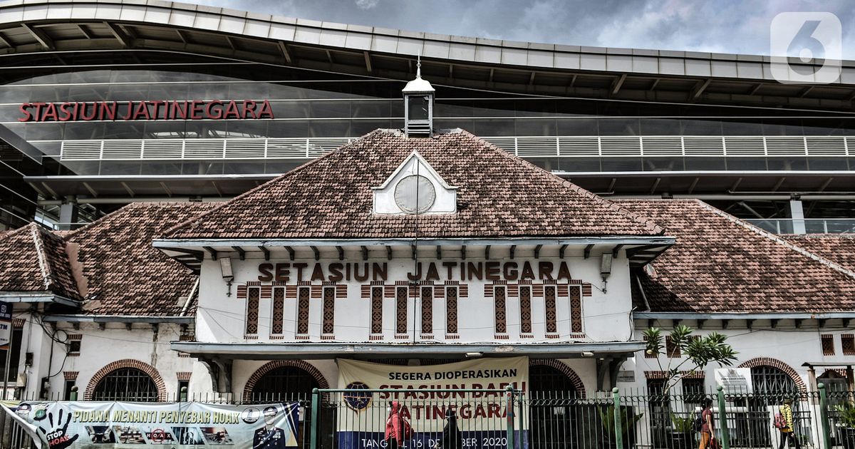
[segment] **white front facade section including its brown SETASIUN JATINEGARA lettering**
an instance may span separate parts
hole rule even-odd
[[[410,248],[405,248],[410,252]],[[206,259],[202,265],[201,283],[199,291],[199,304],[197,310],[197,334],[196,339],[203,342],[234,343],[239,341],[321,341],[334,340],[345,342],[367,342],[371,340],[393,341],[425,341],[448,343],[507,343],[507,342],[556,342],[556,341],[627,341],[631,339],[631,328],[629,327],[629,310],[631,299],[629,291],[628,261],[625,257],[618,258],[612,265],[611,275],[608,277],[608,288],[603,291],[604,282],[600,275],[599,255],[584,258],[582,249],[568,249],[563,259],[557,257],[557,248],[544,248],[540,250],[540,258],[534,258],[534,247],[519,246],[516,248],[515,258],[510,258],[508,248],[493,247],[491,258],[484,259],[484,247],[469,247],[466,250],[469,256],[461,258],[461,250],[443,249],[442,259],[436,259],[436,250],[425,248],[420,251],[417,261],[404,257],[393,257],[389,260],[385,251],[374,251],[367,260],[363,260],[358,250],[345,250],[345,259],[321,258],[315,261],[313,257],[297,257],[293,261],[289,258],[271,257],[269,261],[264,260],[261,253],[248,253],[245,260],[239,260],[237,254],[232,255],[233,287],[231,296],[227,283],[222,279],[220,263]],[[380,257],[380,252],[383,252]],[[422,256],[423,254],[423,256]],[[227,257],[222,254],[221,257]],[[422,258],[424,257],[424,258]],[[458,332],[451,333],[457,336],[453,339],[446,338],[446,301],[445,298],[433,295],[433,333],[429,338],[423,338],[420,331],[422,327],[422,298],[411,298],[407,300],[407,332],[399,334],[396,332],[396,294],[395,290],[408,287],[410,275],[415,275],[414,269],[419,264],[422,276],[416,281],[432,283],[434,287],[465,287],[457,301]],[[463,276],[461,276],[461,264],[464,265]],[[288,281],[275,281],[277,267],[280,269],[281,279],[288,277]],[[363,281],[357,281],[357,276],[365,275],[368,267],[369,277]],[[472,268],[475,267],[473,270]],[[535,279],[524,279],[528,284],[521,283],[520,277],[527,277],[527,268],[530,267],[531,275]],[[320,272],[316,270],[320,269]],[[475,273],[472,273],[475,271]],[[574,332],[571,328],[572,314],[570,310],[569,296],[559,294],[556,298],[557,305],[557,332],[546,331],[545,298],[540,290],[544,286],[552,284],[545,283],[540,279],[541,271],[546,275],[548,272],[556,286],[581,289],[581,319],[582,331]],[[315,281],[311,281],[312,275]],[[559,275],[560,273],[560,275]],[[436,276],[432,276],[435,274]],[[451,274],[451,276],[449,276]],[[338,275],[343,277],[339,281]],[[570,279],[567,278],[569,275]],[[300,276],[300,277],[298,277]],[[350,276],[351,281],[346,278]],[[478,277],[481,279],[478,279]],[[464,279],[462,280],[461,277]],[[496,279],[489,280],[487,277]],[[558,279],[560,278],[560,279]],[[260,281],[261,280],[261,281]],[[451,281],[451,282],[449,282]],[[498,281],[498,282],[496,282]],[[321,296],[318,293],[310,301],[309,332],[307,338],[297,338],[298,323],[298,301],[296,298],[286,296],[284,306],[284,317],[282,322],[283,331],[280,334],[271,332],[273,322],[273,298],[271,294],[262,293],[258,307],[258,331],[252,339],[246,339],[246,316],[247,301],[240,298],[243,293],[242,286],[247,288],[267,287],[272,288],[297,286],[298,282],[309,282],[309,285],[299,287],[315,286],[324,287],[324,283],[335,282],[337,286],[346,287],[346,296],[339,289],[335,299],[335,325],[334,338],[322,339],[321,316],[323,313],[323,301],[317,300]],[[365,288],[372,287],[372,282],[379,283],[380,287],[386,287],[382,307],[382,339],[371,332],[371,302],[365,294]],[[548,281],[547,281],[548,282]],[[256,285],[253,285],[255,283]],[[248,285],[249,284],[249,285]],[[276,286],[274,286],[276,284]],[[397,285],[396,285],[397,284]],[[514,292],[519,286],[530,285],[536,290],[531,299],[532,331],[523,333],[521,331],[521,310],[519,294]],[[498,333],[495,327],[495,300],[485,296],[486,287],[508,286],[506,300],[506,327],[507,331]],[[538,287],[534,287],[538,286]],[[334,288],[327,285],[327,288]],[[374,285],[374,287],[377,287]],[[420,284],[419,288],[425,287]],[[515,288],[516,287],[516,288]],[[562,292],[564,289],[561,289]],[[239,292],[240,291],[240,292]],[[507,338],[497,340],[497,334],[506,334]],[[528,337],[522,337],[528,334]],[[547,334],[557,334],[547,338]],[[329,335],[325,335],[327,337]]]

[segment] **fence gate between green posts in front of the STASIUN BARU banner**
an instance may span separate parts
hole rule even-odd
[[[512,389],[318,389],[310,449],[526,449],[521,405]]]

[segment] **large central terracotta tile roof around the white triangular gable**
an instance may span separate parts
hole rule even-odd
[[[406,139],[377,130],[193,218],[170,238],[411,237],[415,216],[375,215],[380,186],[412,151],[450,185],[458,211],[418,216],[419,237],[658,235],[662,229],[567,180],[453,131]]]

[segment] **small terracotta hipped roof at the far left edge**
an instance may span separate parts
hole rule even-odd
[[[65,242],[36,223],[0,236],[0,291],[80,299]]]

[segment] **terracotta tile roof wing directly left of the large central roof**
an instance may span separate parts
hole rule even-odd
[[[85,312],[178,316],[182,298],[191,292],[197,276],[152,247],[151,240],[211,207],[209,203],[128,204],[67,233],[69,245],[80,245],[78,260],[88,287]]]

